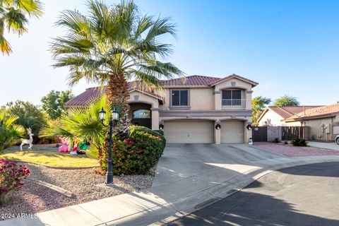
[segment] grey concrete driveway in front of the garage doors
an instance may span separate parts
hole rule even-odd
[[[168,143],[157,165],[153,186],[176,182],[215,167],[244,168],[254,162],[281,158],[247,144]],[[285,156],[284,156],[285,157]]]

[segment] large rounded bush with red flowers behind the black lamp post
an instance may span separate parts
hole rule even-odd
[[[107,170],[108,143],[100,157],[103,171]],[[159,136],[145,131],[133,131],[124,141],[112,144],[112,165],[114,174],[145,174],[157,164],[163,145]]]

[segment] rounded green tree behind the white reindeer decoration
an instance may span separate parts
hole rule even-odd
[[[9,114],[14,114],[18,117],[16,124],[32,129],[32,133],[34,133],[35,136],[39,133],[42,126],[46,124],[47,116],[43,114],[39,107],[33,105],[31,102],[17,100],[14,103],[7,103],[6,108]],[[37,143],[37,137],[34,138],[33,141]]]

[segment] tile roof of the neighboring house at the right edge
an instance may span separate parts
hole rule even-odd
[[[334,105],[326,105],[326,106],[316,107],[312,109],[307,109],[305,110],[305,112],[299,112],[299,114],[293,115],[286,120],[287,121],[299,121],[302,119],[333,117],[336,114],[339,114],[338,103]]]

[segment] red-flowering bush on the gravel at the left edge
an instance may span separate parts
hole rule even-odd
[[[6,201],[9,191],[18,191],[23,183],[20,179],[28,177],[30,169],[16,162],[0,160],[0,204]]]

